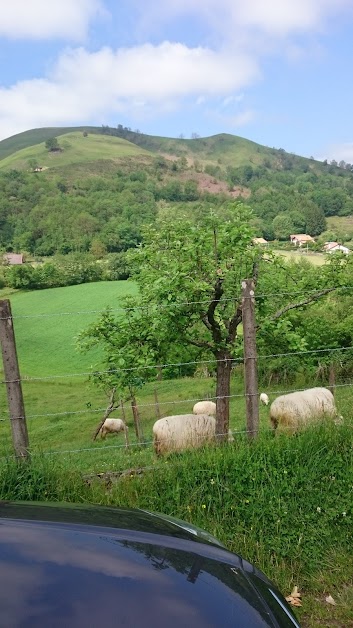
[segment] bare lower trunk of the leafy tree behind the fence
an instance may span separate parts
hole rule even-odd
[[[216,387],[216,438],[219,442],[228,440],[229,430],[229,395],[231,357],[229,351],[218,351],[217,359],[217,387]]]

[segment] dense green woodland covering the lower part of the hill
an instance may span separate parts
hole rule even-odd
[[[146,146],[153,139],[119,128],[103,127],[102,132],[130,135]],[[320,163],[264,147],[260,164],[256,152],[238,167],[215,156],[213,162],[202,162],[195,146],[203,141],[180,140],[180,149],[173,148],[179,156],[170,159],[157,154],[119,164],[103,160],[87,169],[1,171],[0,247],[32,256],[120,253],[141,241],[141,227],[154,223],[157,215],[219,207],[234,190],[253,209],[256,235],[268,240],[285,241],[293,232],[318,236],[326,230],[326,217],[353,214],[350,164]],[[186,142],[193,142],[192,160],[182,150]],[[202,181],[209,183],[206,189]],[[222,185],[212,193],[217,183]],[[330,236],[347,242],[343,234]]]

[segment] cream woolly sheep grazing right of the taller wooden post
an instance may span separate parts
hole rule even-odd
[[[260,400],[268,404],[265,393],[261,394]],[[295,431],[325,417],[335,419],[335,423],[342,420],[338,416],[333,394],[327,388],[308,388],[281,395],[270,406],[270,421],[274,430],[283,427]]]

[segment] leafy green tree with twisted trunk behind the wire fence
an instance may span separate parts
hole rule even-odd
[[[346,263],[334,266],[332,260],[312,272],[304,265],[292,268],[253,246],[251,218],[248,207],[231,203],[217,213],[200,212],[195,221],[183,216],[146,227],[143,246],[128,254],[139,296],[126,302],[126,316],[102,317],[85,332],[91,346],[105,349],[106,367],[114,365],[108,375],[111,388],[129,389],[130,377],[141,383],[154,376],[152,366],[172,362],[176,346],[213,356],[216,429],[222,440],[229,426],[232,360],[242,353],[242,280],[253,279],[259,294],[269,294],[257,302],[259,329],[266,337],[289,312],[334,290]],[[304,298],[292,302],[291,289],[296,295],[301,290]],[[290,326],[288,334],[295,336]],[[122,366],[127,374],[119,372]]]

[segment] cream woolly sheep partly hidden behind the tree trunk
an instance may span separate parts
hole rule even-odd
[[[160,456],[213,442],[216,436],[216,419],[208,414],[178,414],[158,419],[152,431],[154,450]],[[228,442],[233,440],[229,430]]]

